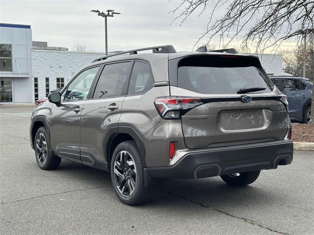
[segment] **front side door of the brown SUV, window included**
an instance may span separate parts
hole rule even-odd
[[[53,104],[50,120],[51,146],[62,158],[80,163],[79,121],[81,111],[100,66],[78,74],[61,94],[61,105]]]

